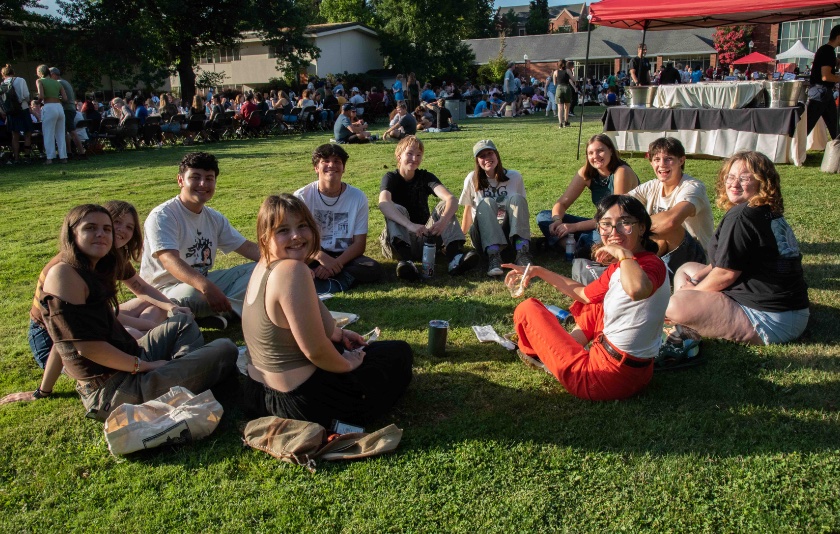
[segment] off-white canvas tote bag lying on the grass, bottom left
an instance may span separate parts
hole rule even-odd
[[[195,395],[175,386],[155,400],[117,406],[105,420],[105,441],[114,455],[189,443],[209,436],[223,413],[209,389]]]

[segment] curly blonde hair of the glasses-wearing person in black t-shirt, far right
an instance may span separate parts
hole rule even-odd
[[[744,167],[753,175],[758,182],[758,193],[750,197],[747,205],[750,207],[769,206],[774,215],[784,215],[785,203],[782,199],[782,185],[779,172],[770,158],[761,152],[753,150],[742,150],[731,155],[723,162],[717,178],[717,206],[722,210],[729,210],[735,204],[729,201],[726,195],[726,177],[732,166],[741,161]]]

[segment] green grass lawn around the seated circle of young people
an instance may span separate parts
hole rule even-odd
[[[584,139],[600,129],[591,117]],[[314,180],[311,152],[329,137],[208,145],[221,162],[211,205],[253,239],[260,202]],[[462,132],[421,138],[423,167],[456,195],[473,167],[473,143],[493,139],[505,166],[525,178],[532,220],[582,164],[575,159],[577,130],[558,130],[541,116],[465,121]],[[28,310],[65,213],[122,199],[145,217],[177,194],[177,164],[192,149],[2,169],[0,396],[39,383],[26,341]],[[395,166],[393,150],[387,143],[348,147],[345,179],[371,199],[367,253],[381,261],[375,199],[381,176]],[[653,177],[643,154],[624,156],[643,181]],[[812,303],[797,343],[704,341],[705,365],[657,373],[628,401],[586,402],[514,353],[477,342],[472,325],[512,331],[516,301],[500,281],[482,270],[406,285],[386,262],[387,281],[328,305],[360,314],[356,331],[379,326],[384,339],[405,339],[415,351],[408,394],[375,425],[405,430],[396,453],[322,462],[310,474],[243,448],[245,418],[228,401],[219,428],[204,441],[115,458],[102,425],[83,417],[73,384],[62,377],[49,399],[0,407],[0,532],[837,532],[840,234],[832,206],[840,177],[821,173],[821,158],[811,154],[804,167],[779,168]],[[704,158],[686,164],[710,196],[719,168],[719,160]],[[572,213],[594,213],[584,197]],[[720,217],[716,211],[715,221]],[[535,224],[532,232],[539,233]],[[557,257],[536,260],[569,274],[570,264]],[[545,283],[528,295],[570,304]],[[452,325],[444,358],[426,350],[431,319]],[[242,344],[238,323],[207,332],[208,339],[216,335]]]

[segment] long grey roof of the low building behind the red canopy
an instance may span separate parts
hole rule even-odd
[[[531,62],[542,63],[560,59],[582,60],[586,57],[586,33],[551,33],[526,35],[505,39],[505,56],[522,63],[525,54]],[[715,54],[712,44],[714,28],[648,32],[648,56],[685,56]],[[619,30],[597,27],[592,30],[590,59],[633,57],[642,35],[638,30]],[[464,41],[475,54],[476,64],[485,64],[499,54],[500,38],[468,39]]]

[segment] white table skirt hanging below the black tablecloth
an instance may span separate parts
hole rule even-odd
[[[704,154],[727,158],[739,150],[755,150],[773,160],[774,163],[793,163],[797,167],[805,162],[805,149],[816,146],[808,144],[809,140],[818,143],[820,123],[814,128],[811,136],[807,135],[807,111],[796,124],[793,137],[777,134],[758,134],[741,132],[738,130],[673,130],[673,131],[605,131],[613,140],[618,150],[633,152],[647,152],[648,145],[660,137],[675,137],[685,147],[686,154]],[[822,123],[822,130],[825,130]],[[815,134],[816,135],[813,135]],[[826,136],[827,137],[827,136]],[[823,140],[823,149],[825,141]]]

